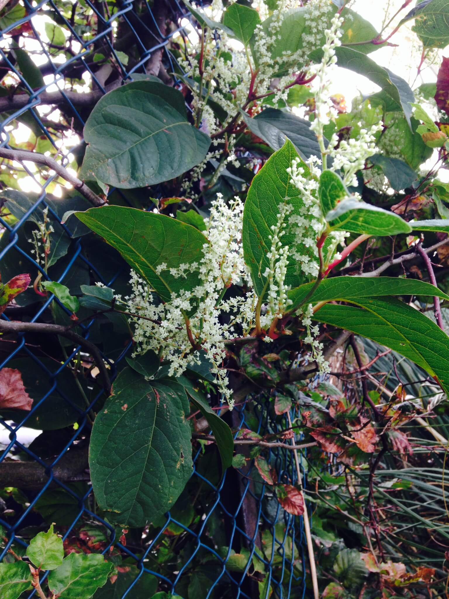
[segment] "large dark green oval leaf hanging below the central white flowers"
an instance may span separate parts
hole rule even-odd
[[[125,368],[95,419],[89,463],[108,519],[144,527],[167,512],[192,474],[189,403],[172,380],[147,382]]]

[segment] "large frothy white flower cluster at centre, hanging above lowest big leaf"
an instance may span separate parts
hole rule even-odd
[[[126,303],[127,311],[138,314],[138,317],[132,317],[135,354],[153,349],[169,361],[169,376],[180,376],[189,365],[201,364],[201,358],[207,357],[219,389],[231,408],[232,392],[227,387],[227,374],[222,368],[226,357],[224,341],[250,332],[257,301],[252,291],[242,297],[223,299],[230,285],[243,281],[251,287],[240,243],[242,211],[239,198],[228,207],[219,194],[207,222],[205,237],[208,241],[205,240],[201,260],[181,264],[178,268],[167,268],[162,263],[156,268],[158,274],[168,271],[177,278],[196,271],[201,283],[192,291],[172,294],[170,301],[163,304],[157,301],[148,284],[133,272],[131,297],[119,298]],[[193,316],[187,316],[192,312]],[[196,347],[189,340],[187,326]]]

